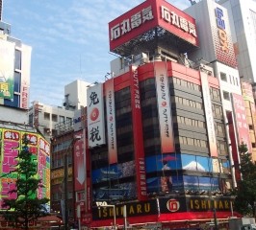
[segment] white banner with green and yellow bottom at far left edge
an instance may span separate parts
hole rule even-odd
[[[0,54],[0,98],[13,99],[14,43],[0,39]]]

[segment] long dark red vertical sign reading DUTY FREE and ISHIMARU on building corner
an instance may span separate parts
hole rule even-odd
[[[137,174],[138,199],[147,199],[144,142],[141,121],[141,95],[137,66],[130,67],[131,105],[133,116],[134,154]]]

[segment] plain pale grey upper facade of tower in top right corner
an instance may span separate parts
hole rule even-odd
[[[256,2],[254,0],[219,0],[218,4],[228,11],[239,64],[240,77],[245,81],[256,81]]]

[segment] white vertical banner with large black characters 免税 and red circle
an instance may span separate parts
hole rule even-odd
[[[106,144],[104,125],[103,84],[97,83],[87,90],[89,147]]]

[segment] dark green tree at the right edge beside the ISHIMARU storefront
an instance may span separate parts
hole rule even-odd
[[[251,153],[247,146],[242,144],[239,147],[240,152],[240,172],[242,179],[238,181],[238,187],[235,193],[235,209],[248,217],[255,217],[256,208],[256,165],[252,162]]]

